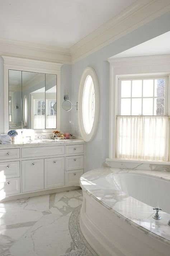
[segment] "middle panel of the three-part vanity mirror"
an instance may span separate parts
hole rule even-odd
[[[27,104],[27,122],[25,120]],[[22,71],[23,128],[45,129],[45,74]]]

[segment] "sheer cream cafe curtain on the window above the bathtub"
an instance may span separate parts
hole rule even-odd
[[[169,116],[117,116],[116,157],[168,161]]]

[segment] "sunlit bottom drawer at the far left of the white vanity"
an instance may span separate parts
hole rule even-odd
[[[13,195],[20,193],[20,178],[6,179],[0,183],[1,195]]]

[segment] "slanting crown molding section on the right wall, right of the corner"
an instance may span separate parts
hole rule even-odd
[[[137,0],[70,48],[72,63],[170,11],[169,0]]]

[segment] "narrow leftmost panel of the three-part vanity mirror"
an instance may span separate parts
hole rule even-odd
[[[9,70],[9,129],[22,128],[22,72]]]

